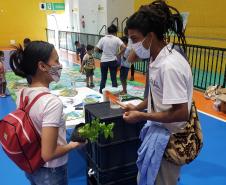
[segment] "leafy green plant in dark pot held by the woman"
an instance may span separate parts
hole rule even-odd
[[[75,126],[71,135],[71,141],[85,142],[88,139],[91,142],[95,142],[100,134],[103,134],[106,139],[113,138],[113,128],[114,123],[101,123],[99,119],[94,119],[91,123],[80,123]]]

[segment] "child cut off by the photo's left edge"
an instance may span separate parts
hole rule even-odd
[[[5,79],[5,69],[4,69],[4,53],[0,51],[0,97],[6,97],[6,79]]]

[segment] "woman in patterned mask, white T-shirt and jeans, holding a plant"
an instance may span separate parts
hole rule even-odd
[[[29,87],[22,89],[20,96],[28,104],[37,95],[41,96],[30,108],[29,117],[41,136],[41,157],[44,165],[26,177],[32,185],[67,185],[67,153],[84,143],[66,141],[66,125],[63,119],[61,100],[50,93],[49,84],[60,80],[62,65],[54,46],[44,41],[32,41],[23,51],[18,47],[10,58],[15,74],[26,78],[31,76]]]

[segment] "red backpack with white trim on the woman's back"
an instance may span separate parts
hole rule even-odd
[[[28,173],[33,173],[45,163],[41,157],[41,137],[29,117],[29,111],[46,94],[49,93],[40,93],[28,105],[28,96],[23,100],[22,91],[19,108],[0,121],[0,144],[3,150],[18,167]]]

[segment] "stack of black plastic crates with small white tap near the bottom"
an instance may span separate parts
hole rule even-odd
[[[97,142],[87,144],[90,185],[136,185],[139,134],[144,123],[125,123],[123,113],[122,109],[111,109],[109,102],[85,106],[86,123],[96,118],[115,123],[112,139],[100,135]]]

